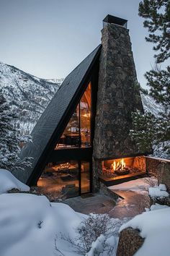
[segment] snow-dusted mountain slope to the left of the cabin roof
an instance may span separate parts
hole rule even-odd
[[[0,89],[17,108],[23,133],[30,134],[63,80],[45,80],[0,62]]]

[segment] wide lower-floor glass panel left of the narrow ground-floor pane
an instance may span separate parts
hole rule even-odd
[[[66,197],[79,195],[79,164],[77,161],[48,163],[37,186],[45,193],[62,192]]]

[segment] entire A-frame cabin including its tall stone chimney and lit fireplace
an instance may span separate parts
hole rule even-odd
[[[73,197],[146,175],[147,153],[130,137],[143,106],[127,20],[107,15],[103,25],[102,45],[68,74],[22,149],[32,158],[22,182]]]

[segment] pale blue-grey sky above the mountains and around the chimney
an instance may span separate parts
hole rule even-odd
[[[66,77],[100,43],[107,14],[128,20],[138,81],[154,63],[138,0],[0,0],[0,61],[42,78]]]

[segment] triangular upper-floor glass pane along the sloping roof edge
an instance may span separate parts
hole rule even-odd
[[[76,107],[70,121],[68,122],[66,129],[61,136],[57,148],[75,148],[79,147],[81,143],[81,137],[79,134],[79,105]]]

